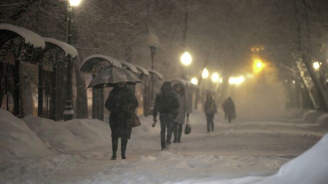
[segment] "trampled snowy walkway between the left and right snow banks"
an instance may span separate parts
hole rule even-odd
[[[254,183],[327,132],[311,124],[216,119],[208,134],[202,113],[190,117],[192,133],[168,151],[160,151],[159,126],[151,128],[147,117],[132,132],[127,160],[110,160],[111,146],[40,159],[1,159],[0,183]],[[244,176],[251,177],[226,180]]]

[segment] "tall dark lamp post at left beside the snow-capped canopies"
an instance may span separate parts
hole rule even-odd
[[[72,22],[73,22],[73,9],[72,7],[76,7],[80,4],[81,0],[70,0],[67,5],[67,25],[68,25],[68,34],[67,34],[67,43],[72,45]],[[64,111],[64,120],[71,120],[73,119],[74,110],[73,110],[73,103],[72,103],[72,58],[68,57],[68,64],[67,64],[67,86],[66,86],[66,106]]]

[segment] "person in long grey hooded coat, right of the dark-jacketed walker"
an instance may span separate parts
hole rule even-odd
[[[186,115],[189,117],[190,110],[185,87],[178,83],[173,86],[173,92],[177,94],[179,100],[178,116],[174,119],[173,136],[174,143],[181,143],[182,125],[185,122]]]

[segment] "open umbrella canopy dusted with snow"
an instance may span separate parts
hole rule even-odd
[[[125,81],[126,84],[141,83],[141,79],[133,72],[113,67],[106,69],[92,79],[87,88],[114,87],[115,83]]]

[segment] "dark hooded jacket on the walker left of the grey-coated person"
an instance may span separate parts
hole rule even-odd
[[[177,95],[172,92],[171,83],[164,82],[160,91],[155,98],[153,117],[156,117],[158,112],[176,114],[179,108],[179,101]]]

